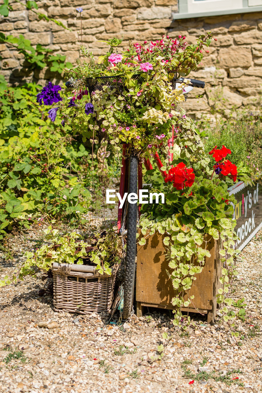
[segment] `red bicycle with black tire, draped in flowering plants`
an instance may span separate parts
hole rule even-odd
[[[134,75],[135,79],[139,81],[140,76]],[[183,89],[183,94],[189,93],[194,87],[204,88],[205,82],[199,81],[197,79],[190,79],[181,77],[176,79],[175,77],[172,80],[173,88],[177,88],[181,83],[184,82],[184,79],[190,81],[187,86]],[[89,93],[94,90],[101,90],[104,86],[114,86],[114,77],[97,77],[97,78],[88,78],[87,80],[87,88]],[[70,81],[66,82],[66,87],[73,87]],[[114,86],[116,87],[116,86]],[[121,93],[122,85],[117,86],[119,93]],[[124,88],[124,86],[123,86]],[[184,91],[185,90],[185,91]],[[172,126],[172,136],[168,140],[168,155],[169,162],[173,161],[173,153],[170,152],[173,147],[174,139],[174,127]],[[131,149],[131,154],[127,158],[126,153],[127,149]],[[167,173],[161,168],[164,166],[161,162],[161,158],[159,157],[158,152],[156,152],[153,156],[157,167],[161,171],[163,178],[167,176]],[[142,190],[142,164],[144,163],[147,170],[153,169],[151,162],[149,159],[147,160],[139,160],[137,154],[132,151],[132,146],[128,146],[127,144],[123,145],[122,151],[122,167],[120,174],[120,189],[119,194],[121,199],[123,199],[125,193],[129,194],[138,194],[139,190]],[[138,192],[137,192],[138,191]],[[123,307],[120,310],[120,318],[122,320],[127,320],[131,316],[132,306],[133,306],[133,296],[134,296],[134,288],[135,288],[135,258],[136,258],[136,243],[137,243],[137,224],[139,219],[140,206],[137,208],[137,202],[128,202],[125,201],[124,206],[120,208],[120,201],[118,203],[118,233],[122,236],[127,235],[126,237],[126,250],[125,250],[125,275],[124,275],[124,303]],[[123,240],[124,242],[124,240]]]

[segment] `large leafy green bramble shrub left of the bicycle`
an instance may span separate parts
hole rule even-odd
[[[18,224],[28,227],[22,212],[72,220],[90,204],[89,151],[46,117],[35,100],[39,88],[9,88],[0,79],[0,239]]]

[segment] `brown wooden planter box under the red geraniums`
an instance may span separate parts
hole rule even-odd
[[[166,270],[172,273],[164,256],[163,239],[166,234],[155,233],[146,238],[144,246],[137,245],[137,316],[142,316],[143,307],[174,309],[172,298],[175,296],[172,281]],[[205,265],[188,291],[194,295],[194,305],[191,303],[183,311],[201,312],[207,314],[208,323],[214,322],[216,315],[216,294],[221,284],[220,241],[208,240],[208,251],[211,257],[206,258]],[[187,296],[185,297],[186,300]],[[198,310],[196,310],[198,309]]]

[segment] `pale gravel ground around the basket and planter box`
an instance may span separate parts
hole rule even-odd
[[[2,277],[35,247],[35,237],[9,240],[13,261],[0,255]],[[232,296],[247,303],[245,320],[236,322],[242,340],[231,337],[219,311],[213,326],[195,314],[185,332],[173,327],[172,314],[153,309],[144,318],[106,325],[105,315],[54,312],[40,274],[6,286],[0,293],[0,391],[261,392],[261,262],[262,231],[242,251],[232,288]],[[163,332],[172,339],[163,340]]]

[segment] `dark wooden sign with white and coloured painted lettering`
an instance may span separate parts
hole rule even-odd
[[[242,250],[247,243],[262,228],[262,185],[254,186],[238,182],[228,189],[229,194],[234,194],[237,203],[233,205],[233,220],[236,219],[236,231],[240,240],[237,248]]]

